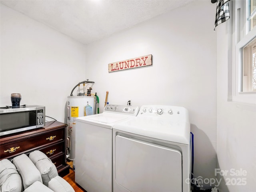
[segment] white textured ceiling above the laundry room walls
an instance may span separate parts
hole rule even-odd
[[[192,1],[1,0],[1,4],[89,44]]]

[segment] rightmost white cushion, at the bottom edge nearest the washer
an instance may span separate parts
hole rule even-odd
[[[54,192],[75,192],[72,186],[60,176],[52,178],[48,187]]]

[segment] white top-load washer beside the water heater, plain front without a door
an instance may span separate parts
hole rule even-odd
[[[88,192],[112,192],[112,127],[135,118],[138,106],[106,105],[76,118],[75,181]]]

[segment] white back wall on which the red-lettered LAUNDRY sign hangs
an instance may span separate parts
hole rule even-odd
[[[203,8],[202,8],[203,7]],[[86,78],[110,104],[184,106],[195,137],[196,177],[216,168],[216,5],[196,1],[92,43]],[[108,64],[152,54],[153,65],[108,73]],[[206,186],[206,185],[205,185]]]

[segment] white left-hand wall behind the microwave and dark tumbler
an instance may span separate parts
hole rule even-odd
[[[47,116],[66,122],[67,96],[86,80],[85,47],[1,4],[0,69],[0,106],[18,92],[20,104],[46,106]]]

